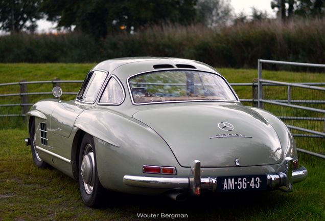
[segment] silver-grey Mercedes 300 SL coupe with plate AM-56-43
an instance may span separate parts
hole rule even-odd
[[[103,61],[75,100],[35,103],[27,144],[36,166],[79,181],[88,206],[102,191],[161,194],[291,191],[306,179],[286,125],[244,106],[204,63],[132,57]]]

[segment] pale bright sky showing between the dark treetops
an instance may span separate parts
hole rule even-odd
[[[251,8],[255,7],[258,10],[266,11],[270,17],[276,17],[275,12],[271,9],[271,0],[224,0],[225,2],[230,2],[230,5],[234,8],[235,14],[244,12],[244,14],[250,15]],[[37,32],[55,32],[56,24],[51,23],[47,20],[37,21]]]

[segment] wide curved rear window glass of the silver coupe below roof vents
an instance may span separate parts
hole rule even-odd
[[[158,71],[129,78],[134,103],[169,101],[237,101],[228,83],[219,75],[200,71]]]

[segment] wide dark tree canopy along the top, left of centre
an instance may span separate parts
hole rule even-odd
[[[76,26],[76,30],[105,38],[109,32],[123,28],[171,23],[191,23],[196,0],[44,0],[42,11],[58,27]]]

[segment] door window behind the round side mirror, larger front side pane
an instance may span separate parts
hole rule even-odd
[[[87,85],[83,85],[85,87],[83,88],[82,95],[78,95],[78,98],[85,102],[94,102],[105,77],[105,72],[94,71],[91,76],[88,76]]]

